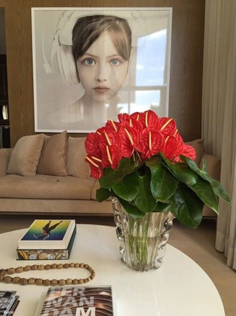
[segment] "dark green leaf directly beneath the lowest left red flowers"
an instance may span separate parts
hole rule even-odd
[[[99,179],[100,186],[106,189],[111,189],[125,175],[125,168],[130,164],[129,158],[122,158],[117,169],[104,168],[103,177]]]

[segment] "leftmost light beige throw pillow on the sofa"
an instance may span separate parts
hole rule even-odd
[[[20,174],[25,177],[34,177],[39,163],[43,142],[43,134],[21,137],[12,150],[7,173]]]

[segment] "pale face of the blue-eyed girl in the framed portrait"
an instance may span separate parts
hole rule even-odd
[[[98,102],[106,102],[117,94],[128,70],[128,61],[119,55],[107,31],[78,58],[76,64],[83,88]]]

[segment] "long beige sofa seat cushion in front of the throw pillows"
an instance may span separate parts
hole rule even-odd
[[[0,197],[90,200],[94,182],[93,178],[8,174],[0,178]]]

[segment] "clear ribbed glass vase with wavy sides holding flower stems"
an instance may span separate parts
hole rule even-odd
[[[136,271],[160,268],[173,216],[153,212],[135,220],[115,197],[112,208],[121,260]]]

